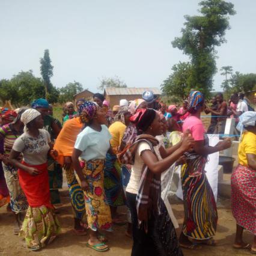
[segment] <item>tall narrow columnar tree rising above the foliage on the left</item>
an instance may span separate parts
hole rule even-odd
[[[44,81],[45,97],[50,103],[55,103],[58,101],[59,93],[50,82],[50,78],[53,76],[53,66],[51,63],[49,50],[46,49],[44,50],[43,58],[40,58],[40,72]]]

